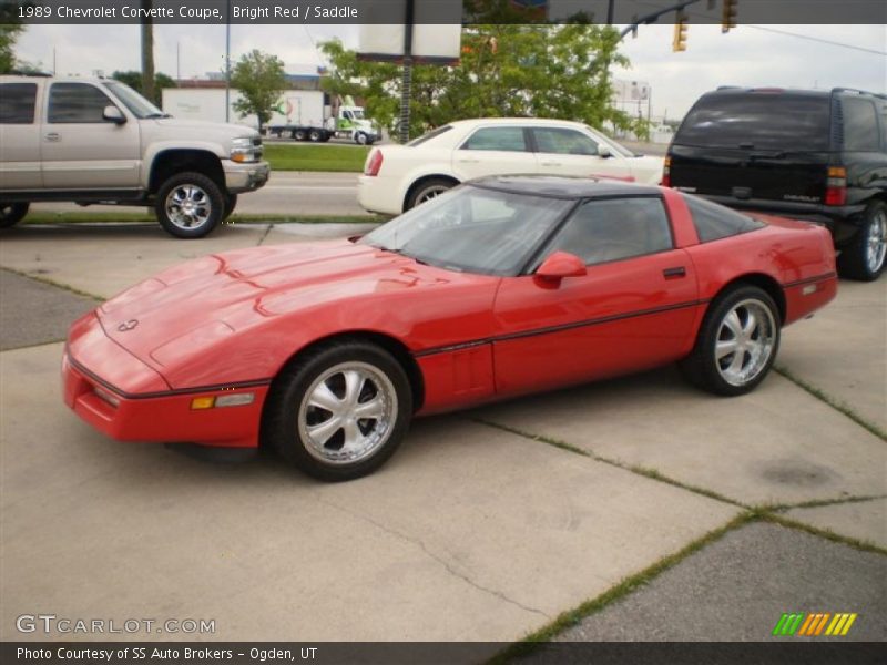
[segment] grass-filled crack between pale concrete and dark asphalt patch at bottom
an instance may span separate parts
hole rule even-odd
[[[714,531],[710,531],[702,538],[691,542],[690,544],[685,545],[674,554],[669,554],[663,556],[652,565],[645,567],[640,573],[635,573],[634,575],[630,575],[628,577],[623,577],[615,586],[611,586],[601,595],[595,596],[589,601],[585,601],[578,607],[572,610],[568,610],[567,612],[562,612],[559,614],[554,621],[542,626],[538,631],[530,633],[526,637],[523,637],[520,642],[516,642],[504,649],[496,654],[492,658],[490,658],[487,663],[488,665],[504,665],[506,663],[511,662],[514,658],[519,658],[522,656],[527,656],[532,652],[537,651],[542,643],[550,642],[553,637],[562,633],[563,631],[577,625],[583,618],[591,616],[592,614],[597,614],[601,612],[609,605],[615,603],[616,601],[628,596],[630,593],[636,591],[638,589],[648,585],[652,582],[655,577],[667,571],[669,569],[674,567],[682,561],[684,561],[691,554],[699,552],[706,545],[710,545],[718,540],[721,540],[726,533],[733,531],[734,529],[738,529],[740,526],[744,526],[750,522],[753,522],[757,519],[756,513],[752,511],[746,511],[733,520],[715,529]]]

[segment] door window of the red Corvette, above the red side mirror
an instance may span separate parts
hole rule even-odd
[[[608,198],[579,206],[544,254],[570,252],[594,265],[672,247],[661,198]]]

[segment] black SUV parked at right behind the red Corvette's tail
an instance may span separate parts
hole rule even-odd
[[[825,224],[840,273],[877,279],[887,253],[887,95],[843,88],[708,92],[669,146],[663,184]]]

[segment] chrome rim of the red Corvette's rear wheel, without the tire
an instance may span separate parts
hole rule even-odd
[[[714,347],[717,370],[731,386],[744,386],[768,367],[776,324],[759,300],[737,303],[722,319]]]

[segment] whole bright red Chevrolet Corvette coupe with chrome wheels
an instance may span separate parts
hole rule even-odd
[[[824,228],[652,186],[499,176],[351,239],[171,268],[71,327],[64,400],[124,441],[278,449],[347,480],[410,419],[680,361],[759,383],[834,298]]]

